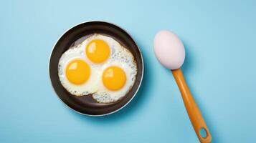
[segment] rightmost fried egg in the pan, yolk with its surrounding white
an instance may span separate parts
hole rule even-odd
[[[131,51],[118,41],[112,43],[113,53],[103,65],[99,89],[93,99],[100,103],[116,102],[127,94],[136,80],[137,64]]]

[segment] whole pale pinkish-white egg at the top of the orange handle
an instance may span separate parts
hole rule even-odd
[[[156,58],[166,68],[179,69],[184,63],[184,45],[171,31],[159,31],[155,36],[153,46]]]

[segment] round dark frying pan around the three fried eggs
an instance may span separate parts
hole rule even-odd
[[[70,46],[79,44],[80,41],[85,39],[87,36],[95,33],[110,36],[119,41],[120,44],[123,44],[123,46],[131,51],[137,61],[138,73],[136,76],[136,82],[133,84],[130,92],[128,92],[128,94],[126,94],[122,99],[110,104],[95,102],[91,96],[75,97],[67,92],[64,87],[62,87],[58,76],[58,63],[60,56],[62,56],[62,54],[67,51]],[[70,107],[81,114],[91,116],[111,114],[125,107],[125,105],[128,104],[131,99],[133,99],[136,92],[138,92],[138,88],[141,85],[141,80],[143,77],[143,58],[136,42],[119,26],[104,21],[88,21],[72,27],[57,41],[52,49],[52,54],[49,59],[49,77],[54,91],[58,97],[60,97],[62,102],[67,105],[67,107]]]

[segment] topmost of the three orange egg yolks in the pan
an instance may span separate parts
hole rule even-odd
[[[110,55],[110,47],[102,39],[93,39],[85,49],[86,56],[94,63],[102,63]]]

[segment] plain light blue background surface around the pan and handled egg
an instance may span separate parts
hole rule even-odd
[[[153,54],[161,29],[186,46],[182,69],[213,142],[256,142],[255,1],[1,1],[0,142],[198,142],[179,89]],[[57,39],[88,20],[127,30],[145,61],[127,107],[87,117],[65,107],[48,77]]]

